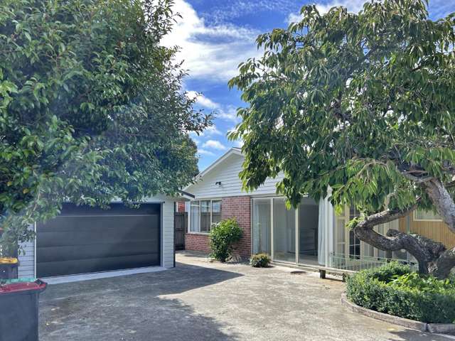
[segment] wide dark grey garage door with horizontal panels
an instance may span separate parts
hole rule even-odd
[[[63,205],[61,215],[37,224],[36,276],[160,265],[160,212],[160,204]]]

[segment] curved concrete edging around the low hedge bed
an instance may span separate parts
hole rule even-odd
[[[368,316],[369,318],[375,318],[376,320],[382,320],[388,323],[393,323],[395,325],[401,325],[406,328],[420,330],[422,332],[455,332],[455,324],[453,323],[425,323],[416,320],[410,320],[408,318],[400,318],[398,316],[380,313],[375,310],[360,307],[360,305],[356,305],[355,303],[348,301],[348,298],[346,298],[346,293],[343,293],[341,296],[341,304],[353,313],[358,313]]]

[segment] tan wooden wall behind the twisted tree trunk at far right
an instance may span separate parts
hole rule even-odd
[[[410,232],[441,242],[446,248],[455,247],[455,233],[451,232],[444,222],[416,222],[411,213],[408,217],[400,218],[400,231],[407,232],[408,219]]]

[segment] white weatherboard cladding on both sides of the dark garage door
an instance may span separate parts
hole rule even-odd
[[[157,195],[150,197],[144,202],[161,203],[161,266],[164,268],[173,267],[173,251],[174,251],[174,227],[173,227],[173,214],[175,199],[166,197],[164,195]],[[28,242],[23,244],[25,254],[19,256],[19,278],[33,278],[35,277],[35,242]]]

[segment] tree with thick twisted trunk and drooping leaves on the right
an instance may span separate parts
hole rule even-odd
[[[420,207],[455,232],[455,14],[432,21],[422,0],[384,0],[301,16],[259,36],[264,55],[230,80],[248,104],[230,135],[245,142],[245,187],[283,171],[293,205],[331,188],[333,205],[361,212],[349,224],[359,239],[444,278],[455,248],[373,227]]]

